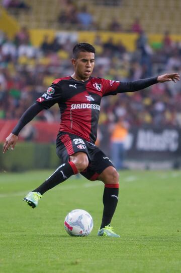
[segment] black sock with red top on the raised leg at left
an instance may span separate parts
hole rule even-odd
[[[33,190],[33,192],[44,194],[46,191],[52,189],[56,185],[67,180],[70,176],[77,173],[77,168],[72,161],[63,163],[49,178],[45,180],[43,184],[41,184],[37,189]]]

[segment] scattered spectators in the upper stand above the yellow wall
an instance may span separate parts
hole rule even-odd
[[[104,2],[104,1],[103,1]],[[108,1],[109,2],[109,1]],[[115,1],[116,4],[117,1]],[[114,1],[110,2],[114,6]],[[106,1],[102,3],[106,5]],[[107,3],[108,4],[108,3]],[[2,0],[2,6],[15,12],[19,11],[31,11],[31,4],[28,5],[26,2],[21,0]],[[79,6],[75,0],[59,0],[59,6],[57,7],[59,14],[57,16],[57,22],[60,28],[65,30],[99,30],[102,29],[100,23],[96,21],[93,13],[89,11],[86,4]],[[17,14],[17,13],[16,13]],[[112,32],[136,32],[142,31],[141,23],[139,18],[135,18],[134,22],[129,28],[124,29],[118,18],[113,17],[112,22],[106,25],[106,29]]]

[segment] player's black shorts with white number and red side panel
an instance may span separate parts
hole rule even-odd
[[[89,164],[80,174],[88,180],[95,181],[106,168],[114,167],[111,160],[95,144],[69,133],[59,132],[56,141],[56,152],[62,163],[68,162],[69,156],[76,152],[85,152]]]

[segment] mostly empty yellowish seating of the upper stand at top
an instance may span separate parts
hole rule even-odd
[[[32,0],[31,3],[24,0],[24,2],[31,6],[28,12],[22,9],[21,12],[17,12],[17,9],[9,9],[9,12],[21,25],[29,28],[80,29],[80,25],[77,24],[61,25],[58,23],[60,12],[64,11],[67,6],[65,0],[53,0],[53,2],[51,0]],[[71,2],[77,11],[86,5],[94,18],[97,29],[108,30],[113,18],[116,18],[124,31],[130,31],[135,18],[139,18],[147,33],[163,33],[168,29],[172,34],[180,33],[181,2],[179,0],[90,0],[88,2],[79,0],[68,2]]]

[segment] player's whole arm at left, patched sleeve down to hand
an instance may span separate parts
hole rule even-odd
[[[18,134],[21,129],[28,124],[33,118],[38,115],[42,110],[50,108],[61,98],[61,89],[58,85],[52,84],[46,93],[39,97],[33,105],[31,105],[27,111],[22,115],[18,124],[13,129],[12,133],[6,138],[3,153],[5,153],[10,147],[13,150],[18,141]]]

